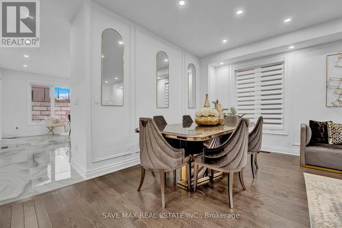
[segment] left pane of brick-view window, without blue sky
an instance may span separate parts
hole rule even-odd
[[[43,121],[51,116],[50,88],[31,86],[32,121]]]

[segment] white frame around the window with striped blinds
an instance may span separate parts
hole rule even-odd
[[[284,97],[282,98],[283,101],[283,129],[282,130],[272,130],[272,129],[263,129],[263,134],[272,134],[272,135],[282,135],[288,136],[289,135],[289,128],[287,126],[288,123],[288,116],[289,116],[289,104],[286,102],[289,99],[289,92],[287,92],[288,88],[287,85],[289,84],[289,55],[277,55],[273,58],[259,58],[257,60],[250,60],[243,63],[233,64],[232,73],[233,73],[233,80],[234,80],[234,105],[237,107],[237,88],[236,88],[236,75],[235,71],[240,71],[244,68],[252,68],[257,66],[263,66],[268,64],[274,64],[276,62],[284,62],[284,74],[283,74],[283,93]]]

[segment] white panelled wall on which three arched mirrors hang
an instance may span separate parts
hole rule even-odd
[[[99,102],[101,34],[107,28],[116,29],[124,41],[122,107],[102,106]],[[138,135],[134,133],[135,127],[139,125],[138,118],[163,115],[169,123],[181,123],[183,114],[194,112],[187,109],[186,71],[187,64],[193,63],[196,66],[199,85],[198,58],[95,3],[88,2],[83,5],[71,29],[74,69],[71,73],[74,94],[72,112],[73,118],[79,118],[77,122],[73,119],[71,121],[72,165],[83,177],[91,178],[140,164]],[[80,42],[81,37],[83,40]],[[170,62],[169,108],[156,107],[158,51],[166,51]],[[79,85],[80,80],[84,84],[82,88]],[[82,91],[88,94],[81,98]],[[74,105],[76,100],[79,105]],[[81,108],[83,102],[86,107]],[[90,113],[90,116],[81,116],[81,110]],[[84,132],[87,132],[86,136],[75,137],[76,134],[82,135]],[[81,156],[86,157],[86,161],[79,162]]]

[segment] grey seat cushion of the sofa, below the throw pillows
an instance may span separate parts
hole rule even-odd
[[[317,144],[305,149],[306,164],[342,170],[342,145]]]

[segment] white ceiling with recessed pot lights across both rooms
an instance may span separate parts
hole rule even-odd
[[[69,77],[70,21],[83,1],[40,1],[40,48],[1,48],[0,68]],[[342,17],[341,0],[93,1],[198,57]]]

